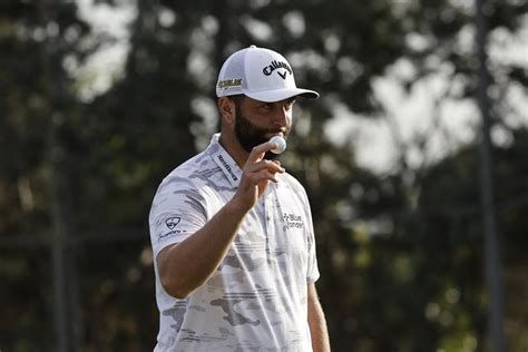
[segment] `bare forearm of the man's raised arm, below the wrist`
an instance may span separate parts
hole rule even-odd
[[[245,214],[229,202],[190,237],[164,248],[157,258],[164,289],[184,299],[201,286],[225,257]]]

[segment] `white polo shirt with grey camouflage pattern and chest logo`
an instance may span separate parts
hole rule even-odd
[[[218,138],[162,182],[149,216],[155,257],[192,236],[234,196],[242,170]],[[156,352],[312,351],[306,285],[320,274],[310,204],[295,178],[276,177],[217,271],[185,300],[163,289],[154,261]]]

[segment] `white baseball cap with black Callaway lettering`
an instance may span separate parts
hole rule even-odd
[[[282,55],[255,46],[229,56],[218,75],[218,98],[241,94],[265,102],[295,96],[319,97],[316,91],[297,88],[292,67]]]

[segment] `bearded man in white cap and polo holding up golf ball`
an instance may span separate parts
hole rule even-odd
[[[280,53],[233,53],[216,87],[221,134],[160,184],[149,216],[160,312],[155,351],[330,351],[310,205],[273,160],[295,86]]]

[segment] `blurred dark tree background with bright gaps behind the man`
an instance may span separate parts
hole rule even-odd
[[[322,95],[282,163],[333,351],[528,351],[528,6],[478,3],[3,0],[0,351],[153,350],[150,202],[250,45]]]

